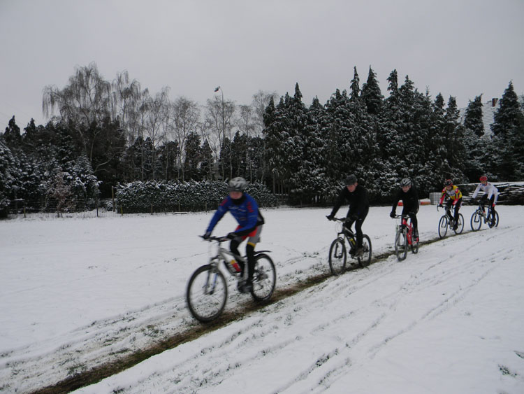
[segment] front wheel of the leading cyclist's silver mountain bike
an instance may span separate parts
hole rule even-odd
[[[187,307],[191,315],[202,323],[214,320],[224,311],[227,296],[224,274],[211,265],[196,269],[187,283]]]

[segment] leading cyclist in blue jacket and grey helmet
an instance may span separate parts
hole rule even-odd
[[[255,199],[245,192],[247,182],[244,178],[233,178],[228,183],[229,195],[221,202],[217,211],[211,218],[208,230],[205,230],[204,239],[211,236],[214,226],[224,214],[229,211],[233,218],[238,222],[238,226],[234,232],[227,234],[227,238],[231,239],[229,248],[235,255],[238,253],[238,246],[242,241],[247,240],[246,255],[247,255],[247,279],[238,282],[238,290],[241,293],[249,293],[252,290],[253,272],[255,269],[255,246],[260,241],[260,233],[264,224],[259,204]],[[244,273],[244,264],[239,262],[242,268],[242,277]]]

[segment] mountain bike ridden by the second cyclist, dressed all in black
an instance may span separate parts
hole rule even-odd
[[[343,274],[347,263],[347,248],[349,247],[349,256],[356,258],[361,267],[367,267],[371,262],[371,239],[366,234],[362,236],[362,248],[364,254],[356,255],[356,234],[345,226],[348,221],[347,218],[333,218],[332,220],[340,223],[340,230],[338,230],[337,238],[333,240],[329,248],[329,268],[333,275]]]

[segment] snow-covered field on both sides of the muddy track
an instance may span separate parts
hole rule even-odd
[[[392,251],[389,210],[365,221],[374,254]],[[278,288],[328,272],[329,211],[264,211]],[[473,211],[463,234],[403,262],[330,277],[78,393],[524,393],[524,207],[499,206],[500,226],[480,232]],[[0,392],[197,327],[184,291],[210,255],[197,236],[211,215],[0,221]],[[441,215],[421,206],[422,241]],[[249,302],[231,285],[228,310]]]

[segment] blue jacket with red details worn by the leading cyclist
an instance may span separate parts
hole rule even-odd
[[[223,202],[221,202],[217,211],[211,218],[207,232],[213,231],[214,226],[219,223],[219,220],[227,211],[231,212],[233,218],[238,222],[235,234],[238,234],[239,236],[249,234],[257,226],[263,225],[264,223],[264,218],[259,210],[259,204],[256,204],[253,197],[247,193],[243,193],[240,199],[232,199],[228,196]]]

